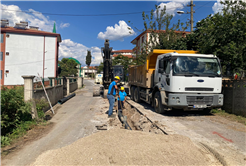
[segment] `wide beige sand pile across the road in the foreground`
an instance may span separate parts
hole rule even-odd
[[[180,135],[115,129],[44,152],[33,165],[208,165],[209,159]]]

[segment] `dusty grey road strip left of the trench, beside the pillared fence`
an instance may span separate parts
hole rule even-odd
[[[95,125],[100,121],[93,119],[100,111],[100,107],[96,106],[102,99],[92,97],[93,80],[84,80],[84,84],[82,93],[64,103],[51,119],[55,126],[46,136],[14,152],[2,164],[29,165],[44,151],[64,147],[96,132]]]

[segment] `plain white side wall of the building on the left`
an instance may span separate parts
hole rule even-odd
[[[22,75],[43,76],[44,36],[9,33],[6,38],[4,85],[24,84]],[[55,77],[56,37],[45,37],[45,75]]]

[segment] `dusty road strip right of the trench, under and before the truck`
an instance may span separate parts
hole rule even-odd
[[[149,104],[128,101],[153,122],[162,125],[167,133],[184,135],[197,145],[209,146],[227,165],[246,165],[245,125],[201,111],[176,110],[161,115]]]

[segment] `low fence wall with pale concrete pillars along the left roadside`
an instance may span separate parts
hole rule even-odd
[[[44,98],[47,100],[44,89],[37,88],[34,89],[33,78],[35,76],[22,76],[24,79],[24,100],[33,101],[33,99],[40,100]],[[64,96],[69,95],[76,89],[83,86],[82,77],[68,77],[68,78],[55,78],[50,77],[50,86],[45,87],[47,95],[50,99],[51,105],[55,105],[58,100],[64,98]],[[70,82],[72,80],[72,82]],[[33,117],[35,117],[35,108],[32,108]]]

